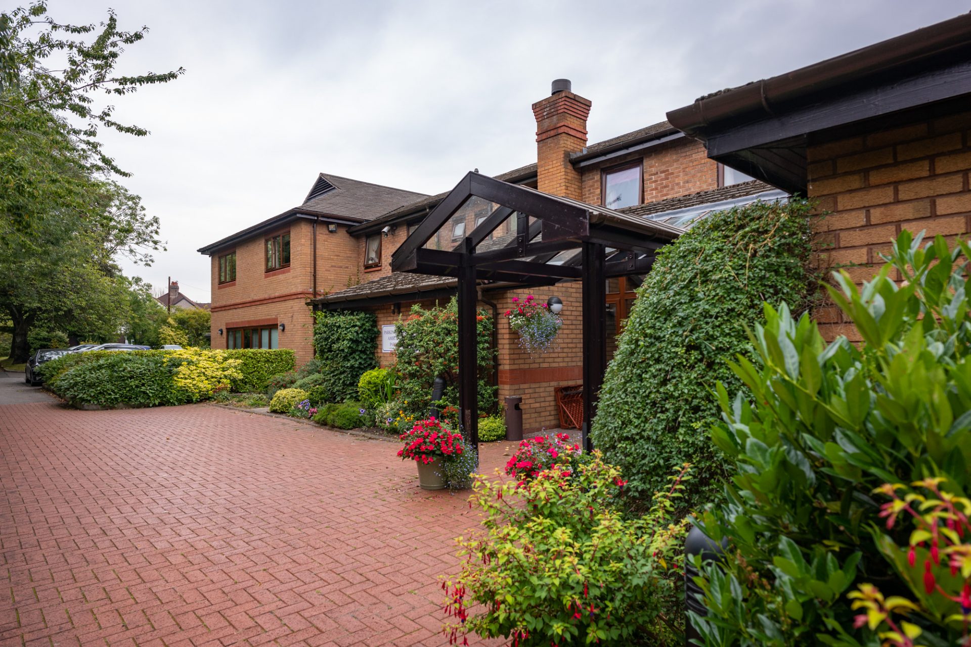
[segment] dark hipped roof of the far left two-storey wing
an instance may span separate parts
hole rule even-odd
[[[327,173],[318,174],[307,197],[298,207],[285,210],[251,227],[242,229],[226,238],[198,249],[211,254],[219,248],[243,241],[260,232],[273,229],[300,218],[324,218],[331,221],[356,224],[376,218],[402,205],[414,203],[426,197],[416,191],[405,191],[359,179],[342,178]]]

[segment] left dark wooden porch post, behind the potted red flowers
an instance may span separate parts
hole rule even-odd
[[[458,268],[458,408],[462,435],[475,452],[479,464],[479,340],[476,304],[479,292],[476,268],[472,265],[471,239],[464,241],[462,265]]]

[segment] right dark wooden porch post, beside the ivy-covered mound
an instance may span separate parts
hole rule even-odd
[[[584,451],[593,449],[590,423],[607,370],[606,253],[599,243],[583,243],[584,269]]]

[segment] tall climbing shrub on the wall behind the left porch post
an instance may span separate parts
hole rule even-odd
[[[494,411],[495,387],[489,382],[495,351],[492,348],[492,318],[480,310],[477,315],[477,361],[479,375],[479,409]],[[458,307],[452,299],[446,307],[424,309],[412,307],[411,315],[395,325],[398,345],[395,348],[399,401],[402,410],[423,418],[431,406],[431,389],[435,377],[446,382],[442,406],[458,404]]]

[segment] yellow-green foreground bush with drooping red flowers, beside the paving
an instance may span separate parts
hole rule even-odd
[[[599,452],[573,479],[554,470],[524,484],[477,475],[471,503],[485,532],[457,540],[468,559],[445,583],[452,642],[468,632],[521,647],[684,644],[661,611],[677,606],[683,579],[675,557],[686,523],[670,514],[686,471],[635,519],[619,511],[620,470]]]

